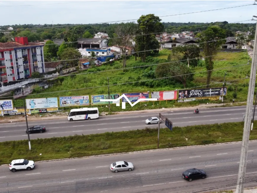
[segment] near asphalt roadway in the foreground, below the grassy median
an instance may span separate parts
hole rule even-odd
[[[245,187],[257,184],[257,142],[250,142]],[[0,193],[193,193],[235,188],[241,143],[36,163],[31,171],[0,167]],[[110,164],[132,162],[114,173]],[[185,181],[182,172],[203,169],[206,179]]]

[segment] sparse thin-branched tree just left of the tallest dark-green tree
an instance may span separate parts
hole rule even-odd
[[[136,24],[134,22],[121,23],[116,27],[113,44],[120,46],[123,58],[123,68],[126,67],[126,51],[128,46],[132,46],[133,35],[136,32]]]

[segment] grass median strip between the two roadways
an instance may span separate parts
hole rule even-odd
[[[250,140],[257,139],[254,122]],[[243,122],[174,127],[160,130],[160,148],[241,141],[242,136]],[[27,140],[1,142],[0,164],[19,158],[39,161],[156,149],[157,129],[37,139],[31,146],[30,151]]]

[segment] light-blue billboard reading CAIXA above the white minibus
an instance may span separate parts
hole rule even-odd
[[[60,107],[89,105],[89,95],[59,97]]]

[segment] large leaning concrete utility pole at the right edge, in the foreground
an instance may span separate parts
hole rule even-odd
[[[253,16],[253,17],[257,18],[257,16]],[[256,30],[255,30],[255,41],[253,46],[251,74],[250,74],[249,87],[248,87],[247,105],[246,105],[246,111],[245,111],[245,124],[244,124],[244,131],[243,131],[241,156],[240,156],[240,163],[239,163],[239,169],[238,169],[237,188],[235,193],[244,192],[247,151],[248,151],[248,145],[249,145],[249,135],[250,135],[251,118],[252,118],[253,95],[254,95],[255,80],[256,80],[256,67],[257,67],[256,40],[257,40],[257,22],[256,22]]]

